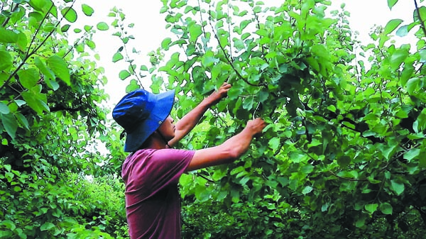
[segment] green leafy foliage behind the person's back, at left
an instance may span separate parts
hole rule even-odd
[[[80,6],[1,3],[0,238],[126,237],[122,183],[99,178],[116,173],[99,152],[110,141],[99,136],[109,131],[107,80],[90,54],[92,35],[107,26],[73,27],[94,12]]]

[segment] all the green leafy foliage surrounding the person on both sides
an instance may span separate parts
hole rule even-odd
[[[125,14],[73,28],[75,1],[4,1],[0,14],[0,238],[124,238],[124,152],[109,127],[92,36],[121,40],[127,91],[175,88],[182,117],[223,82],[229,97],[181,143],[222,143],[264,118],[232,165],[181,177],[184,238],[420,238],[426,223],[426,7],[354,37],[331,1],[162,0],[173,37],[138,65]],[[389,0],[390,9],[398,0]],[[405,25],[404,25],[405,24]],[[70,31],[80,34],[69,43]],[[415,43],[393,37],[413,34]],[[113,125],[114,126],[114,125]],[[96,140],[95,140],[96,139]],[[106,155],[97,152],[99,142]],[[86,175],[94,177],[88,181]],[[107,191],[109,194],[107,194]]]

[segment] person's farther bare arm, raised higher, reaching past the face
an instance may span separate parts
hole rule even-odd
[[[206,99],[204,99],[200,104],[198,104],[192,111],[187,113],[183,118],[176,123],[175,138],[171,139],[168,144],[173,147],[175,143],[178,143],[187,133],[190,133],[192,128],[194,128],[200,118],[204,113],[214,104],[217,104],[222,98],[226,97],[231,84],[224,83],[219,88],[219,90],[214,91]]]

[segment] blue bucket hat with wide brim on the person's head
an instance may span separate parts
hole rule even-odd
[[[152,94],[136,89],[123,97],[112,111],[112,118],[126,131],[124,152],[136,151],[170,115],[175,90]]]

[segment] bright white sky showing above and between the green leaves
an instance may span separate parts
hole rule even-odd
[[[281,3],[277,0],[263,0],[263,2],[267,6]],[[359,31],[360,39],[367,40],[368,33],[374,25],[385,26],[389,20],[400,18],[405,21],[401,24],[403,26],[411,23],[413,19],[413,1],[400,0],[392,11],[388,9],[387,0],[332,0],[332,2],[335,4],[332,9],[339,9],[343,2],[346,4],[346,11],[351,13],[349,18],[351,28]],[[136,40],[131,40],[131,43],[136,44],[136,50],[141,51],[141,62],[136,62],[138,66],[144,64],[149,67],[148,52],[156,50],[164,38],[173,37],[173,33],[165,29],[164,15],[159,13],[162,3],[158,0],[141,2],[134,0],[77,0],[76,4],[76,6],[80,4],[92,6],[95,13],[93,17],[89,18],[91,19],[89,21],[96,22],[111,23],[112,18],[107,17],[109,10],[114,6],[123,9],[127,22],[135,23],[135,26],[129,29],[129,32],[136,38]],[[125,81],[119,79],[119,71],[126,69],[127,66],[111,62],[112,56],[120,46],[118,38],[111,35],[111,31],[99,32],[95,36],[94,42],[97,44],[97,51],[101,56],[101,61],[97,64],[105,68],[105,74],[108,78],[109,83],[106,91],[110,96],[109,105],[112,108],[124,96],[125,87],[129,84],[129,79]],[[148,76],[144,79],[149,78]]]

